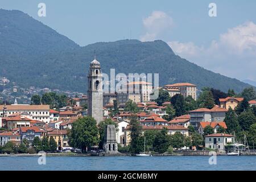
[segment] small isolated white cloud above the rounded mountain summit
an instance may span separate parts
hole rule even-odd
[[[141,41],[152,41],[158,38],[166,30],[173,26],[173,20],[163,11],[153,11],[150,16],[143,19],[146,33],[141,36]]]

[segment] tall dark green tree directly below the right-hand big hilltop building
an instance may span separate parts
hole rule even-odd
[[[181,94],[176,94],[172,97],[171,103],[174,106],[176,117],[185,114],[185,100]]]

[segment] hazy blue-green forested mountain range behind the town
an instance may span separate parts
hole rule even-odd
[[[119,40],[80,47],[38,20],[17,10],[0,10],[0,77],[21,86],[86,92],[86,75],[94,50],[102,71],[159,73],[160,85],[192,82],[241,92],[250,86],[213,73],[175,55],[161,40]]]

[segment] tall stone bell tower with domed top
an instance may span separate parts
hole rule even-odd
[[[96,60],[90,63],[88,73],[88,115],[96,119],[97,124],[103,120],[103,90],[101,64]]]

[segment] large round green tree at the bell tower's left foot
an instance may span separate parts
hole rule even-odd
[[[97,122],[92,117],[83,117],[73,122],[72,129],[69,131],[69,144],[72,147],[81,148],[82,152],[98,144]]]

